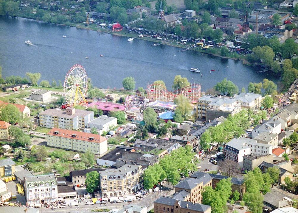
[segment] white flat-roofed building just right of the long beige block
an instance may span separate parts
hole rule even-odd
[[[113,126],[117,126],[117,118],[101,115],[87,123],[84,132],[91,133],[92,129],[96,129],[97,133],[101,135],[103,131],[109,131]]]

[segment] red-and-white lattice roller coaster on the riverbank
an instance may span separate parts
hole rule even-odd
[[[190,84],[172,92],[164,85],[147,83],[146,92],[150,100],[173,101],[178,95],[184,95],[189,101],[198,101],[201,97],[201,84]]]

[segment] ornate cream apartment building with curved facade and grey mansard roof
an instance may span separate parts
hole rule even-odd
[[[124,165],[118,169],[99,171],[102,196],[109,198],[133,194],[133,190],[139,188],[142,172],[140,165]]]

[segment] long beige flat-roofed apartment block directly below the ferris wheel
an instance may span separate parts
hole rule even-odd
[[[47,109],[39,114],[40,126],[45,128],[85,129],[93,119],[94,112],[75,108]]]

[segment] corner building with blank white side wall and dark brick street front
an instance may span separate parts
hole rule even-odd
[[[232,160],[236,163],[243,162],[243,156],[249,154],[249,147],[244,141],[234,138],[226,144],[224,148],[225,158]]]

